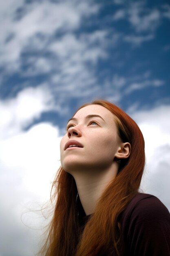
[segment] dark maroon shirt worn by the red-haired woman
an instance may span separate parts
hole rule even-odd
[[[82,227],[86,216],[77,198]],[[121,213],[121,256],[170,256],[170,213],[154,195],[137,193]]]

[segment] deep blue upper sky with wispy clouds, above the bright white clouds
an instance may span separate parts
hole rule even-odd
[[[49,90],[56,108],[35,121],[57,120],[63,128],[94,98],[126,111],[170,103],[169,1],[9,2],[1,25],[0,97]]]

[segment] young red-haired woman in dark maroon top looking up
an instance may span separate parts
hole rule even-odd
[[[61,140],[45,256],[170,256],[170,213],[139,193],[144,138],[104,100],[82,106]]]

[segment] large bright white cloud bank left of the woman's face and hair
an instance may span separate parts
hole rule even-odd
[[[45,222],[37,210],[49,200],[60,166],[60,137],[58,128],[48,123],[23,129],[53,108],[53,97],[45,86],[26,88],[0,102],[2,255],[32,256],[38,251]]]

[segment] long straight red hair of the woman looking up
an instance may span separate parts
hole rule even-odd
[[[101,105],[116,116],[119,137],[131,145],[130,156],[121,162],[117,176],[102,193],[83,232],[77,215],[75,180],[60,167],[51,190],[55,200],[53,218],[40,251],[44,256],[120,255],[119,216],[139,189],[145,164],[144,138],[135,121],[113,103],[95,100],[91,104]]]

